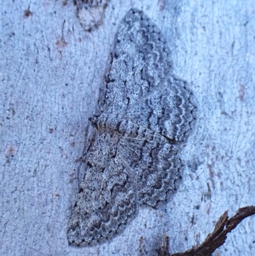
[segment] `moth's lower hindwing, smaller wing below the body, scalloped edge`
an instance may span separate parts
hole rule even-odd
[[[181,165],[176,146],[163,138],[122,138],[118,149],[134,172],[140,204],[154,207],[166,199],[168,192],[173,192]]]

